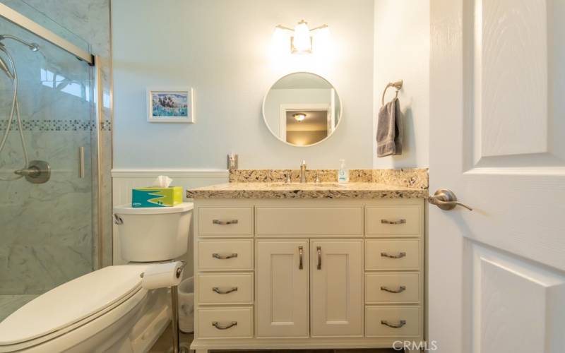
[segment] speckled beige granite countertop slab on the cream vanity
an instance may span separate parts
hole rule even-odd
[[[187,198],[427,198],[427,189],[374,182],[231,182],[186,191]]]

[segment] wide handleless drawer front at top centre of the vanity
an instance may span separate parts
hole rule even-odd
[[[258,236],[357,236],[363,235],[363,208],[267,207],[256,208]]]

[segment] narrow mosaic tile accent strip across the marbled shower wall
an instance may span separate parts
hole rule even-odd
[[[0,120],[0,131],[5,131],[8,126],[8,120]],[[96,124],[93,121],[83,120],[23,120],[23,131],[93,131]],[[16,119],[13,119],[10,126],[11,131],[18,131],[19,126]],[[100,130],[112,131],[112,121],[102,121]]]

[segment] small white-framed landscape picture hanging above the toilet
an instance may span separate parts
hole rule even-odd
[[[194,90],[191,87],[148,88],[147,121],[194,124]]]

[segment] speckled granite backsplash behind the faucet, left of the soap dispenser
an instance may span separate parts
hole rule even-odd
[[[290,174],[291,181],[300,180],[299,169],[237,169],[230,170],[230,183],[283,183]],[[338,181],[337,169],[307,169],[306,181],[314,182],[316,175],[323,183]]]

